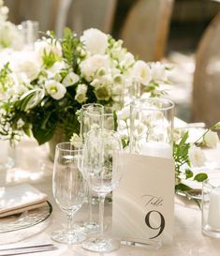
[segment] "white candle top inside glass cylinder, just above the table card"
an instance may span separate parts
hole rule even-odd
[[[172,148],[169,143],[142,143],[141,154],[150,157],[172,158]]]

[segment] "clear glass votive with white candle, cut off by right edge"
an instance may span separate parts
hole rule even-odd
[[[220,238],[220,178],[210,178],[202,184],[202,233]]]

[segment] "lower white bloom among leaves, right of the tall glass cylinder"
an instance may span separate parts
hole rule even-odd
[[[191,144],[188,156],[191,164],[195,167],[203,166],[206,161],[204,152],[195,144]]]

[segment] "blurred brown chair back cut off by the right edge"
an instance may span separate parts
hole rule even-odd
[[[208,127],[220,121],[220,13],[198,45],[193,87],[193,121]]]

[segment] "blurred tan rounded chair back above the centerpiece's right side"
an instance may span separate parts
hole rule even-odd
[[[164,57],[174,0],[139,0],[129,11],[120,38],[145,61]]]

